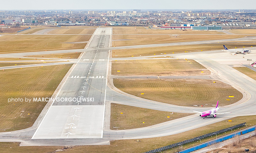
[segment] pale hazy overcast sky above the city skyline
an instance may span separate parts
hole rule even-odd
[[[1,0],[0,10],[256,9],[256,0]]]

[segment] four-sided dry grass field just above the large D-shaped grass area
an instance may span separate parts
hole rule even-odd
[[[211,72],[194,60],[154,59],[112,61],[112,75],[119,76],[195,76]]]

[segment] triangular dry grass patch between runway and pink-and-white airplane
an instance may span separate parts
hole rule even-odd
[[[111,103],[110,129],[123,130],[132,128],[143,128],[192,114],[193,113],[172,114],[172,112],[157,111],[152,109]],[[167,116],[169,116],[170,118],[167,118]]]

